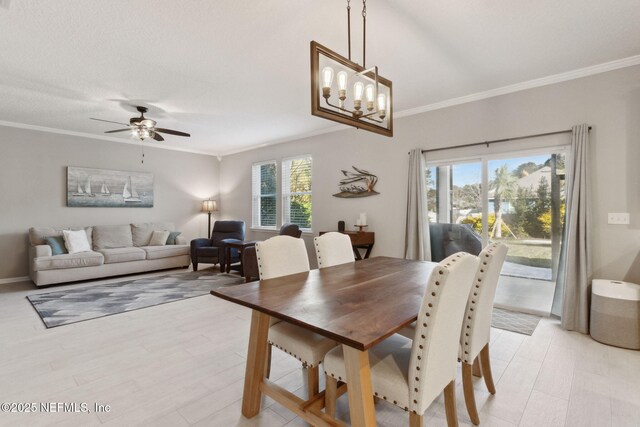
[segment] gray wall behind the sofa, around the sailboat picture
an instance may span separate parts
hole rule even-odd
[[[215,157],[0,127],[0,280],[28,274],[27,231],[171,221],[187,239],[206,235],[203,199],[218,193]],[[68,208],[67,166],[151,172],[153,208]]]

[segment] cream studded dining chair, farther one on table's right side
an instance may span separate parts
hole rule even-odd
[[[467,299],[462,324],[459,352],[459,360],[462,362],[462,388],[469,418],[475,425],[480,424],[480,417],[473,392],[472,375],[483,376],[489,393],[496,394],[489,359],[489,337],[493,300],[507,250],[508,247],[502,243],[492,243],[478,255],[480,266]],[[404,328],[400,334],[412,338],[415,334],[415,324]]]

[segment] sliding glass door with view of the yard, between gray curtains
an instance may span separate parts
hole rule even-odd
[[[496,305],[550,311],[564,229],[564,178],[561,147],[429,164],[429,221],[449,224],[438,226],[449,235],[465,227],[482,246],[500,241],[509,247]],[[431,228],[440,233],[438,227]],[[468,241],[457,249],[471,248]]]

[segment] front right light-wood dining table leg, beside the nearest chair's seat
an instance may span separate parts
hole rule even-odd
[[[373,405],[369,352],[360,351],[347,345],[343,345],[342,350],[349,387],[351,425],[354,427],[375,426],[376,411]]]

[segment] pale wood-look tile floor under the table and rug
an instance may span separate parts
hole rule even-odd
[[[0,412],[1,426],[305,425],[268,398],[257,417],[240,414],[248,309],[207,295],[47,330],[25,297],[62,288],[0,286],[0,402],[87,403],[92,412]],[[497,394],[476,379],[482,426],[640,426],[640,352],[550,319],[533,336],[493,329],[491,339]],[[271,377],[304,395],[299,363],[277,350]],[[471,425],[459,382],[459,421]],[[96,403],[111,409],[95,412]],[[381,426],[408,425],[392,405],[376,411]],[[338,415],[348,420],[346,395]],[[446,425],[442,397],[425,425]]]

